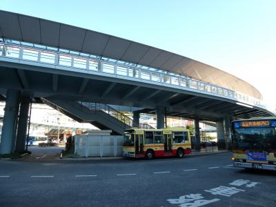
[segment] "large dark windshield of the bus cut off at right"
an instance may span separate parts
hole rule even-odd
[[[237,150],[276,150],[276,129],[235,128],[233,148]]]

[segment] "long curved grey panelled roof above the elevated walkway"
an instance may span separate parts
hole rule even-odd
[[[0,37],[159,68],[262,99],[256,88],[228,72],[166,50],[64,23],[0,10]]]

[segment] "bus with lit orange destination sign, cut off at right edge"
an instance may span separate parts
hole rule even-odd
[[[232,121],[233,165],[276,170],[276,117]]]

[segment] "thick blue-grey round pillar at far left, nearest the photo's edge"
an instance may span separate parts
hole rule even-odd
[[[14,150],[15,135],[17,132],[17,117],[19,109],[19,90],[8,90],[6,107],[3,117],[0,154],[10,154]]]

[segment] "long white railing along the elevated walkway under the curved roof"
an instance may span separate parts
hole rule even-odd
[[[101,75],[112,74],[121,78],[130,77],[133,80],[139,79],[150,83],[161,83],[167,87],[179,87],[184,90],[195,90],[200,93],[226,97],[228,99],[240,101],[242,103],[249,103],[250,105],[266,109],[266,106],[264,106],[261,100],[244,95],[241,92],[235,92],[234,90],[229,90],[227,88],[222,88],[220,86],[180,75],[166,73],[161,70],[146,70],[135,66],[126,66],[117,62],[114,63],[92,57],[83,57],[81,55],[71,55],[67,53],[65,54],[59,51],[43,50],[40,48],[32,48],[4,42],[0,43],[0,57],[54,64],[68,68],[77,68],[78,70],[82,69],[87,72],[99,72]]]

